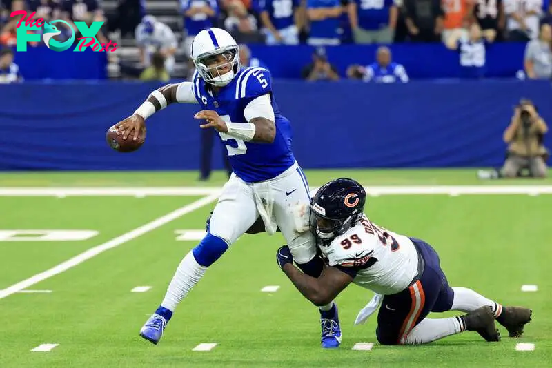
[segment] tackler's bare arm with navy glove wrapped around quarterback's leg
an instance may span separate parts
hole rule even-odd
[[[308,276],[293,265],[293,258],[287,246],[278,249],[278,265],[297,290],[314,305],[331,303],[335,297],[353,282],[353,277],[337,267],[325,267],[318,278]]]

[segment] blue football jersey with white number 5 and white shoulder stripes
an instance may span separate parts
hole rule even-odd
[[[202,110],[214,110],[224,121],[233,123],[247,123],[244,110],[248,103],[259,96],[270,94],[276,123],[273,143],[244,142],[219,133],[222,144],[228,150],[232,170],[239,178],[248,183],[269,180],[295,163],[291,151],[290,122],[279,112],[268,70],[259,67],[243,68],[217,94],[213,94],[210,85],[197,72],[192,81],[195,99]]]

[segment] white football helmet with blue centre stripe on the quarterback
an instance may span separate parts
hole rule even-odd
[[[239,71],[239,47],[230,33],[220,28],[209,28],[197,34],[192,42],[192,60],[197,72],[207,83],[223,87],[234,79]],[[217,55],[224,55],[228,63],[209,68]],[[219,73],[219,68],[231,64],[229,72]]]

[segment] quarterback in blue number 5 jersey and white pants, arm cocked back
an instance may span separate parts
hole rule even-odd
[[[146,119],[170,103],[197,103],[203,110],[195,119],[202,121],[201,128],[219,132],[233,169],[205,238],[181,260],[164,300],[140,331],[154,344],[161,339],[177,304],[259,217],[268,234],[277,229],[282,232],[303,272],[317,277],[324,267],[316,256],[308,223],[302,222],[304,214],[296,210],[308,207],[311,196],[291,150],[290,122],[279,112],[270,72],[259,67],[242,69],[236,41],[219,28],[199,32],[191,55],[196,68],[192,81],[153,91],[132,116],[116,125],[124,139],[135,139],[145,129]],[[319,309],[322,347],[338,347],[337,307],[331,302]]]

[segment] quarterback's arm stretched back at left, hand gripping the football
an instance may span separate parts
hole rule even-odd
[[[168,84],[151,92],[148,99],[137,108],[134,114],[115,125],[117,134],[123,134],[123,139],[127,139],[134,132],[134,139],[137,139],[146,129],[148,117],[175,102],[197,103],[192,82]]]

